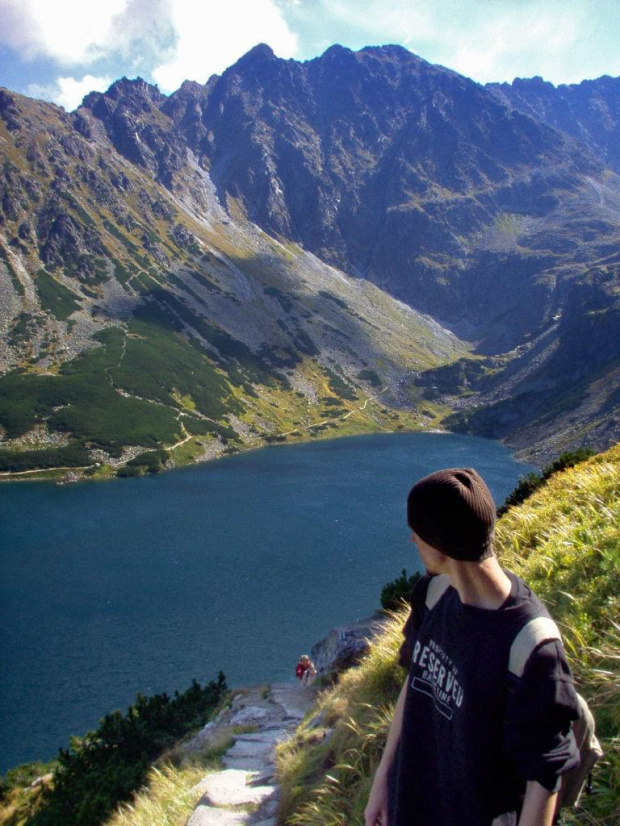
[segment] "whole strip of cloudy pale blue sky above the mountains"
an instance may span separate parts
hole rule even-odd
[[[397,43],[480,83],[620,75],[619,0],[0,0],[0,86],[68,111],[120,77],[165,94],[257,43],[310,60]]]

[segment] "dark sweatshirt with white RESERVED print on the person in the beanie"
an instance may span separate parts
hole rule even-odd
[[[537,648],[520,679],[509,675],[517,633],[548,613],[507,574],[511,592],[497,610],[463,605],[452,587],[428,610],[429,577],[416,586],[401,649],[409,688],[390,771],[390,826],[491,826],[518,810],[528,780],[554,791],[579,762],[570,730],[577,698],[561,643]]]

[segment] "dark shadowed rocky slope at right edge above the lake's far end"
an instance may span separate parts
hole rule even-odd
[[[539,466],[565,450],[597,450],[620,439],[615,257],[571,281],[562,312],[503,369],[492,360],[463,360],[460,369],[429,371],[420,383],[430,398],[470,394],[446,420],[449,427],[508,440]]]

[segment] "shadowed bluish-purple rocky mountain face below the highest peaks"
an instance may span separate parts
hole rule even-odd
[[[515,275],[537,292],[557,256],[568,263],[566,237],[584,240],[566,226],[576,193],[598,211],[588,178],[602,164],[585,148],[400,47],[296,63],[259,46],[208,94],[183,89],[164,108],[224,202],[482,336],[509,326],[507,299],[517,328],[540,322],[550,297],[525,300]]]

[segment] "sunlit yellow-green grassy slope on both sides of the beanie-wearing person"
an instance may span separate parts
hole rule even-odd
[[[502,562],[523,576],[562,626],[581,692],[606,750],[581,824],[620,822],[620,446],[558,474],[500,521]],[[355,826],[403,680],[395,665],[404,614],[364,662],[321,698],[281,747],[281,823]]]

